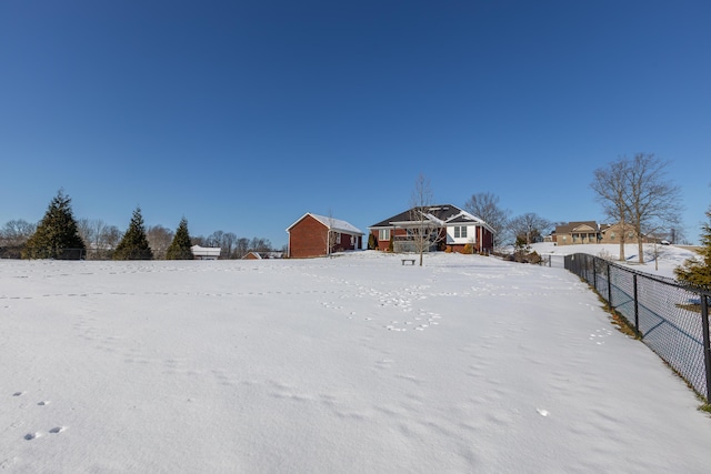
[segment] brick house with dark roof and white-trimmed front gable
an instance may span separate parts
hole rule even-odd
[[[427,225],[437,230],[438,243],[430,250],[449,246],[462,252],[467,244],[474,252],[488,253],[493,250],[493,229],[483,220],[452,204],[430,205],[427,209],[409,209],[368,228],[375,238],[378,250],[388,250],[392,239],[394,252],[412,251],[412,232],[424,218]]]

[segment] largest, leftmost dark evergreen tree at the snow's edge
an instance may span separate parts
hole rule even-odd
[[[71,199],[59,190],[34,234],[27,241],[22,258],[79,260],[86,250],[71,211]]]

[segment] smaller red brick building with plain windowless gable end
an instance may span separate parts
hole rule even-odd
[[[287,229],[289,258],[324,256],[362,248],[363,232],[339,219],[307,212]]]

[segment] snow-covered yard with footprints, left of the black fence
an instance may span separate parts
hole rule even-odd
[[[7,472],[708,472],[711,418],[562,269],[0,261]]]

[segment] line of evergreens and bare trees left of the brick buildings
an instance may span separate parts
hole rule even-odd
[[[219,246],[221,259],[241,259],[249,252],[273,251],[269,239],[238,238],[221,230],[191,236],[188,221],[176,231],[163,225],[146,226],[140,208],[133,211],[126,232],[99,219],[76,220],[71,199],[60,190],[39,223],[12,220],[0,229],[0,258],[92,260],[187,260],[190,248]]]

